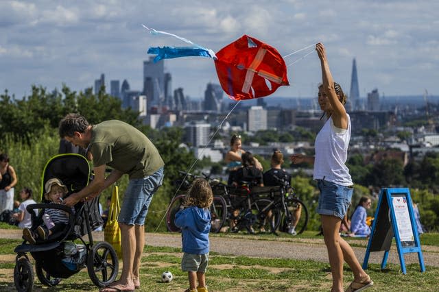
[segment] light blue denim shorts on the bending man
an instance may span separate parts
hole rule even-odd
[[[152,196],[163,183],[163,167],[152,175],[130,180],[123,196],[121,212],[117,221],[127,225],[145,224]]]

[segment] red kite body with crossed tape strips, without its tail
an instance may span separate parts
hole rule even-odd
[[[241,36],[216,56],[219,83],[235,100],[265,97],[279,86],[289,85],[281,54],[256,38]]]

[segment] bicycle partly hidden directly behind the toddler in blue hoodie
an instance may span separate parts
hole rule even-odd
[[[210,175],[206,175],[205,173],[202,173],[203,177],[193,175],[191,173],[187,173],[185,171],[178,171],[181,175],[184,175],[183,180],[180,180],[180,184],[183,186],[187,186],[189,188],[190,182],[187,180],[187,178],[191,178],[191,180],[194,180],[195,178],[204,178],[205,180],[211,182]],[[185,191],[187,191],[187,188]],[[167,230],[170,232],[180,232],[180,228],[178,228],[175,223],[175,217],[176,213],[184,208],[185,203],[185,194],[180,194],[174,197],[174,199],[171,200],[171,204],[169,204],[169,207],[166,212],[166,227]],[[222,197],[213,196],[213,202],[211,206],[209,207],[209,210],[211,211],[211,232],[217,233],[219,230],[221,230],[222,226],[224,226],[224,223],[226,221],[227,217],[227,207],[226,207],[226,201]]]

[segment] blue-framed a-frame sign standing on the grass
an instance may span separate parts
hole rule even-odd
[[[381,269],[388,260],[392,239],[395,239],[401,270],[405,269],[404,254],[418,253],[420,271],[425,271],[423,252],[414,219],[412,199],[408,188],[383,188],[379,193],[375,220],[372,224],[363,269],[367,269],[370,252],[384,251]]]

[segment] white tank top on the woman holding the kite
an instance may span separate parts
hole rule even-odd
[[[351,186],[352,178],[346,167],[348,146],[351,140],[351,118],[348,115],[346,130],[335,127],[330,117],[316,136],[314,180],[327,180],[341,186]]]

